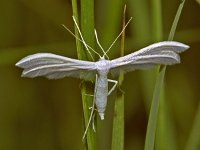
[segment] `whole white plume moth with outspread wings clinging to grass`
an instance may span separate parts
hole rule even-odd
[[[89,77],[96,77],[94,104],[96,105],[97,111],[102,120],[104,119],[104,113],[107,105],[107,96],[117,86],[117,81],[107,78],[109,72],[114,75],[118,75],[120,72],[125,73],[136,69],[148,69],[155,65],[177,64],[180,63],[179,53],[189,48],[189,46],[179,42],[164,41],[152,44],[129,55],[109,60],[107,53],[123,33],[131,19],[106,51],[100,45],[96,30],[94,30],[97,44],[102,49],[103,56],[100,56],[100,54],[86,44],[74,17],[73,20],[79,31],[81,39],[76,37],[68,28],[65,28],[73,36],[75,36],[76,39],[83,43],[89,53],[90,50],[96,53],[99,56],[98,61],[84,61],[51,53],[37,53],[23,58],[16,63],[16,66],[24,69],[22,77],[34,78],[45,76],[48,79],[60,79],[71,76],[85,80],[88,80]],[[114,86],[110,90],[108,90],[108,82],[114,83]]]

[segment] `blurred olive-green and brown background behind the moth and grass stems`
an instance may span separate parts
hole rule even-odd
[[[133,17],[126,31],[125,53],[128,54],[157,41],[150,1],[95,1],[95,27],[103,47],[108,48],[121,30],[124,3],[127,18]],[[162,1],[163,40],[167,40],[179,4],[179,0]],[[15,67],[19,59],[37,52],[77,58],[75,39],[61,26],[65,24],[73,31],[71,16],[70,0],[0,1],[0,150],[82,149],[81,81],[21,78],[22,70]],[[170,120],[167,126],[173,129],[174,145],[181,150],[200,109],[200,5],[197,1],[186,1],[174,40],[191,47],[181,54],[181,64],[167,68],[165,77],[165,103],[169,106]],[[109,53],[111,59],[119,56],[119,44]],[[147,101],[152,98],[155,83],[150,74],[151,71],[135,71],[125,75],[127,150],[144,148]],[[144,82],[149,86],[145,87]],[[113,96],[108,100],[106,120],[112,119],[109,114],[113,110]],[[109,138],[108,135],[108,141]]]

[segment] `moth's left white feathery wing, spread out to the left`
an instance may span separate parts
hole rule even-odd
[[[37,53],[27,56],[16,63],[23,68],[23,77],[44,76],[60,79],[66,76],[93,80],[96,74],[95,62],[82,61],[51,53]]]

